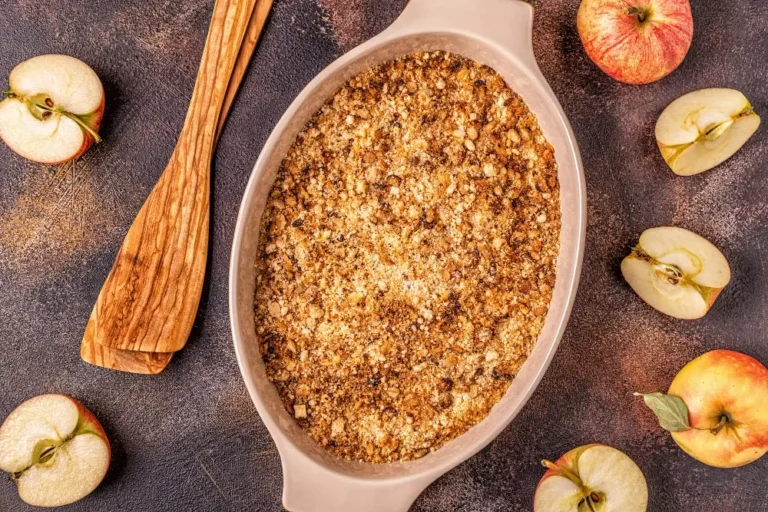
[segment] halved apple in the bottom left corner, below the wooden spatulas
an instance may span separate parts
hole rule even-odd
[[[40,395],[14,409],[0,427],[0,470],[37,507],[68,505],[99,486],[110,447],[96,417],[64,395]]]

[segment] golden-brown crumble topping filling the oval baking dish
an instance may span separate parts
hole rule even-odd
[[[351,460],[466,432],[536,342],[559,234],[553,148],[493,69],[435,51],[350,79],[261,222],[256,331],[286,409]]]

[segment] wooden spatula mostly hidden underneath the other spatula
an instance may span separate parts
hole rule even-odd
[[[245,72],[248,69],[251,56],[256,49],[259,36],[261,35],[261,31],[264,28],[264,24],[266,23],[271,8],[272,0],[258,0],[253,13],[251,14],[248,28],[242,46],[240,47],[240,52],[237,55],[234,71],[225,94],[224,104],[216,128],[216,142],[221,136],[221,132],[224,130],[227,114],[232,108],[237,91],[240,88]],[[112,370],[148,375],[162,372],[168,363],[170,363],[171,358],[173,357],[173,352],[139,352],[110,348],[97,343],[94,338],[96,314],[96,308],[94,307],[91,317],[88,319],[83,341],[80,346],[80,356],[87,363]]]

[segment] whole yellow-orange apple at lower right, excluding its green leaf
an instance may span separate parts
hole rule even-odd
[[[683,399],[693,427],[672,437],[698,461],[735,468],[768,451],[768,368],[757,359],[731,350],[707,352],[680,370],[669,394]],[[713,434],[723,415],[733,423]]]

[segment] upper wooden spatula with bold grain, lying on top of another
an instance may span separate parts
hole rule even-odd
[[[189,337],[208,256],[215,130],[256,0],[217,0],[181,136],[128,230],[95,306],[97,343],[175,352]]]

